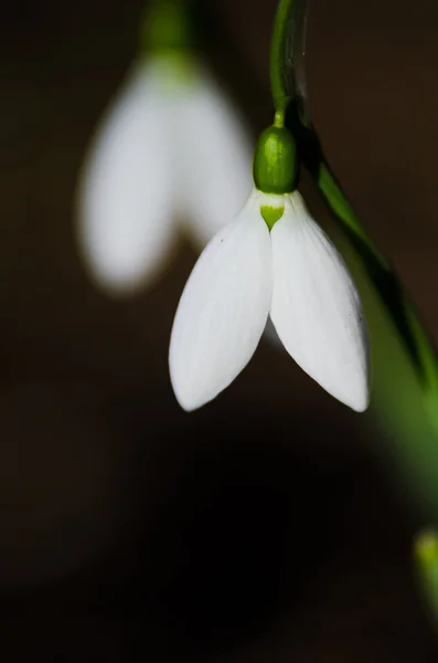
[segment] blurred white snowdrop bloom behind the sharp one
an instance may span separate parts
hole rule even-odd
[[[185,223],[199,248],[252,186],[253,147],[234,108],[193,59],[140,61],[110,105],[82,176],[78,240],[98,285],[153,280]]]

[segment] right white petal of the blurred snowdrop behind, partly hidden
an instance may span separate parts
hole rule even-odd
[[[205,246],[253,188],[254,145],[237,110],[204,71],[179,102],[182,221]]]

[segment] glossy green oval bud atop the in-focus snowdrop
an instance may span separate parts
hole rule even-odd
[[[258,139],[254,155],[253,177],[264,193],[291,193],[299,175],[297,146],[286,127],[271,126]]]

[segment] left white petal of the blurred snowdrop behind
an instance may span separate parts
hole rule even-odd
[[[165,75],[159,62],[133,69],[84,168],[79,244],[93,276],[109,291],[131,291],[152,278],[175,239]]]

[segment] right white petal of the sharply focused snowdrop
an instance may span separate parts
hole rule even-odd
[[[270,316],[287,351],[329,393],[359,412],[368,403],[366,324],[342,257],[298,192],[271,231]]]

